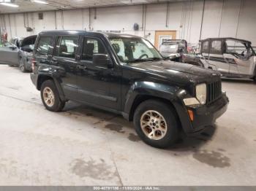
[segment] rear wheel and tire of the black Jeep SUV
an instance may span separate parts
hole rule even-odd
[[[46,80],[41,86],[41,99],[45,108],[51,112],[61,112],[65,106],[65,102],[59,98],[59,92],[53,80]]]

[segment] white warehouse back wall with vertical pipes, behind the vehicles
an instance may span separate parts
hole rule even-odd
[[[25,14],[25,25],[34,28],[32,32],[26,32],[24,14],[2,17],[9,38],[29,36],[44,30],[86,28],[87,31],[121,31],[146,36],[154,42],[155,31],[176,30],[177,38],[187,39],[191,43],[197,43],[201,35],[202,39],[216,36],[237,37],[248,39],[256,45],[255,7],[255,0],[206,0],[204,12],[203,0],[170,2],[168,11],[167,3],[147,4],[145,28],[143,5],[44,12],[43,20],[38,20],[37,12],[28,13]],[[140,31],[133,30],[134,23],[139,24]]]

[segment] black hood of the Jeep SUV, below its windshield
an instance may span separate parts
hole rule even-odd
[[[133,69],[143,69],[148,74],[162,77],[172,82],[210,82],[213,79],[219,80],[220,74],[211,69],[203,69],[187,63],[173,61],[154,61],[129,64]]]

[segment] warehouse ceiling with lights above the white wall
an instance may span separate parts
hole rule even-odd
[[[4,1],[4,0],[0,0]],[[34,0],[12,0],[13,4],[19,7],[6,7],[0,4],[0,14],[14,12],[37,12],[57,9],[76,9],[88,7],[107,7],[130,4],[151,4],[165,2],[167,0],[41,0],[48,4],[38,4]],[[169,1],[186,1],[186,0],[169,0]]]

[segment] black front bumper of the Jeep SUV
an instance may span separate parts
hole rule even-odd
[[[212,104],[204,105],[204,106],[185,106],[187,109],[192,110],[194,114],[194,120],[189,120],[190,125],[187,125],[184,128],[185,133],[194,134],[198,133],[210,125],[213,125],[214,122],[222,116],[227,111],[227,105],[229,100],[225,93],[222,93],[222,96],[214,101]],[[187,114],[189,118],[189,114]]]

